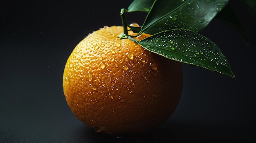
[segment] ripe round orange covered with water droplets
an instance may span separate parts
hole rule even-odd
[[[180,99],[182,64],[131,40],[120,40],[117,35],[123,30],[105,26],[89,34],[65,66],[67,103],[80,121],[97,132],[151,130],[171,116]]]

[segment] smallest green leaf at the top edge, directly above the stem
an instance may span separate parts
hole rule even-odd
[[[142,11],[148,12],[155,0],[134,0],[128,7],[127,12]]]

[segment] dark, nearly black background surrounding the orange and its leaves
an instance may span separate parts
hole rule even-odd
[[[230,1],[251,43],[216,19],[200,33],[221,48],[236,79],[184,64],[174,114],[126,140],[78,121],[65,101],[62,76],[76,44],[105,25],[121,25],[119,12],[132,0],[0,0],[0,142],[255,142],[256,22],[240,1]],[[144,16],[128,14],[128,22],[141,25]]]

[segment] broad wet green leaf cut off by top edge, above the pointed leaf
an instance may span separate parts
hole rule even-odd
[[[169,29],[198,32],[227,3],[228,0],[156,0],[141,29],[151,35]]]

